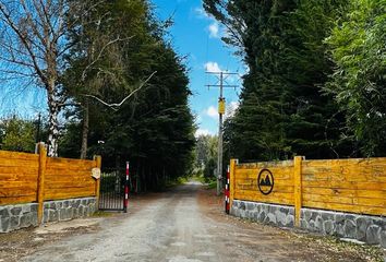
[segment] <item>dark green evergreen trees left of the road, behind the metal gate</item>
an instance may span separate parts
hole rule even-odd
[[[98,32],[93,26],[74,32],[73,37],[83,39],[73,50],[76,56],[68,70],[68,83],[81,79],[93,46],[117,37],[128,40],[109,46],[111,49],[93,64],[87,78],[80,83],[84,87],[75,88],[76,92],[69,88],[82,106],[68,111],[73,122],[63,132],[61,152],[79,155],[84,120],[83,92],[107,103],[119,103],[157,72],[118,110],[88,99],[87,153],[101,154],[104,167],[120,167],[130,160],[132,175],[140,179],[142,190],[160,189],[166,180],[191,172],[194,160],[194,123],[188,105],[191,92],[184,60],[168,44],[166,24],[154,17],[147,1],[108,2],[99,5],[91,17],[100,13],[107,16],[102,16]],[[112,78],[105,78],[106,72]]]

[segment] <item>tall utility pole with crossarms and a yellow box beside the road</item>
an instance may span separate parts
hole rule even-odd
[[[208,88],[210,87],[219,87],[220,96],[218,98],[218,156],[217,156],[217,195],[221,194],[222,189],[222,121],[224,115],[226,112],[226,98],[224,97],[224,88],[237,88],[238,85],[225,84],[226,79],[230,75],[239,75],[238,73],[229,73],[229,72],[206,72],[208,74],[214,74],[218,79],[218,82],[214,85],[206,85]]]

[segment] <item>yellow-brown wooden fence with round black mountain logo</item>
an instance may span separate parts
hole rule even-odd
[[[301,207],[386,216],[386,158],[305,160],[297,156],[254,164],[232,159],[233,199],[292,205],[297,225]]]

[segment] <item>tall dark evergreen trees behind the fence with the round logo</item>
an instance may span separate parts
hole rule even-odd
[[[336,104],[334,93],[323,92],[335,70],[326,55],[330,45],[325,39],[341,21],[349,3],[204,1],[206,11],[229,28],[224,40],[240,48],[239,53],[250,68],[240,108],[226,122],[227,157],[272,160],[293,155],[360,155],[357,141],[347,138],[345,121],[351,116]],[[384,43],[384,37],[376,38]],[[385,61],[382,56],[378,60]],[[381,68],[376,66],[377,70]],[[383,74],[376,73],[378,78]],[[379,135],[382,129],[385,130],[384,126],[376,131]],[[376,144],[382,146],[379,141]]]

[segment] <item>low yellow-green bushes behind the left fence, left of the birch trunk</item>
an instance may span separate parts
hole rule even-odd
[[[0,148],[16,152],[35,151],[34,122],[12,116],[0,120]]]

